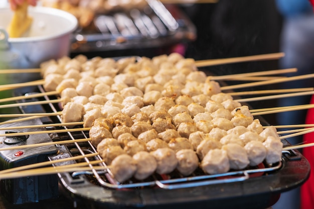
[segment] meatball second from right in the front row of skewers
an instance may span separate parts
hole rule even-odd
[[[250,141],[245,144],[244,149],[247,152],[249,158],[249,165],[255,166],[263,162],[266,157],[267,150],[262,142],[260,141]]]

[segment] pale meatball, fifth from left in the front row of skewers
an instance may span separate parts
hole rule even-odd
[[[201,168],[208,174],[228,172],[230,169],[230,163],[226,150],[209,150],[201,162]]]

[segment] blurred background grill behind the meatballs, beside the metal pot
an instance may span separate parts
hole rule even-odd
[[[161,48],[196,39],[196,28],[177,7],[147,0],[144,9],[97,15],[93,29],[73,34],[72,53]]]

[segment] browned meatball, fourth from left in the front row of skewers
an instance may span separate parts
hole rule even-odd
[[[192,149],[181,149],[176,152],[178,159],[177,170],[182,175],[190,175],[199,166],[199,158]]]

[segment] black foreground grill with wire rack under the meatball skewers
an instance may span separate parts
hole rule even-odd
[[[30,91],[33,93],[44,92],[42,86],[33,88],[32,90],[28,89],[28,92],[17,90],[15,94],[18,96],[30,94]],[[55,98],[45,96],[38,99]],[[60,110],[58,104],[53,103],[20,107],[22,113],[57,112],[58,110]],[[60,123],[60,121],[59,116],[53,116],[21,123],[50,124]],[[260,121],[267,124],[262,118]],[[60,128],[66,129],[66,127]],[[88,138],[86,131],[53,133],[49,137],[40,138],[51,141],[73,139],[73,143],[50,146],[47,148],[48,151],[43,149],[42,152],[34,153],[33,150],[33,155],[25,158],[22,156],[17,162],[15,162],[14,153],[18,151],[29,153],[29,150],[2,153],[2,161],[6,162],[4,166],[10,168],[23,163],[30,164],[36,161],[55,160],[96,152],[90,142],[75,143],[75,139]],[[282,142],[284,146],[289,145],[284,139]],[[2,144],[2,146],[5,145]],[[96,170],[86,172],[78,169],[73,173],[35,176],[31,180],[29,177],[2,180],[1,191],[5,197],[16,204],[36,202],[41,199],[55,198],[59,181],[72,200],[80,200],[82,204],[86,204],[90,208],[172,208],[174,206],[183,208],[230,208],[230,206],[233,208],[267,208],[278,200],[281,192],[300,186],[309,175],[309,163],[297,150],[284,151],[282,156],[282,162],[272,166],[262,164],[244,171],[231,171],[221,175],[207,175],[201,170],[196,170],[189,177],[183,177],[173,172],[162,176],[153,175],[144,181],[130,179],[121,183],[111,177],[105,166],[101,172]],[[95,159],[100,159],[100,156],[85,157],[83,161],[89,162]],[[69,163],[76,163],[76,161],[55,163],[55,165]],[[92,167],[92,165],[90,166]],[[23,186],[21,187],[21,185]],[[32,192],[44,193],[42,196],[34,197]]]

